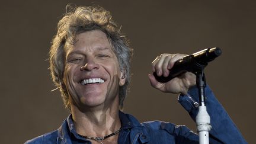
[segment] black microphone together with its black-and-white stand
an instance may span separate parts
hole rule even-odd
[[[196,116],[197,132],[199,132],[199,143],[209,144],[209,132],[212,129],[210,125],[210,116],[206,110],[204,88],[206,87],[206,78],[204,68],[208,62],[220,56],[222,51],[218,47],[208,48],[192,55],[184,56],[182,59],[174,63],[172,70],[167,77],[157,76],[154,72],[156,80],[159,82],[168,82],[172,78],[181,75],[184,72],[193,72],[196,75],[197,88],[199,89],[199,112]]]

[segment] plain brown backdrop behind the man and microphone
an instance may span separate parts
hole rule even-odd
[[[65,5],[101,5],[122,25],[135,50],[124,111],[140,121],[195,124],[177,95],[151,88],[147,75],[161,53],[221,47],[207,82],[248,143],[255,143],[255,1],[7,1],[1,2],[0,143],[23,143],[57,129],[68,116],[47,67],[50,41]]]

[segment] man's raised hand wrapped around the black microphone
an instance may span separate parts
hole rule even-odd
[[[152,87],[159,89],[162,92],[171,92],[173,94],[187,94],[187,91],[193,85],[196,85],[196,75],[191,72],[185,72],[180,76],[171,79],[166,83],[161,83],[156,81],[155,76],[153,76],[153,72],[156,72],[158,76],[169,75],[169,71],[171,71],[174,63],[181,59],[182,57],[187,56],[184,54],[168,54],[164,53],[152,62],[152,73],[149,74],[149,81],[151,82]]]

